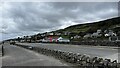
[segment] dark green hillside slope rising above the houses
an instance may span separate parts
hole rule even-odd
[[[86,23],[86,24],[78,24],[69,26],[65,29],[60,29],[55,32],[72,32],[72,33],[93,33],[98,29],[104,30],[113,30],[116,33],[120,31],[120,17],[107,19],[104,21],[94,22],[94,23]]]

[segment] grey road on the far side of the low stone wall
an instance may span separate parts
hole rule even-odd
[[[118,56],[117,47],[109,47],[109,46],[88,46],[88,45],[68,45],[68,44],[45,44],[45,43],[19,43],[22,45],[28,45],[33,47],[43,47],[49,49],[57,49],[62,51],[69,51],[73,53],[87,54],[91,57],[102,57],[109,58],[113,60],[120,60]],[[119,61],[118,61],[119,62]]]

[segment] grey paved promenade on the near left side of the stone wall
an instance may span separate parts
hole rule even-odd
[[[5,44],[5,55],[2,57],[2,66],[68,66],[55,58],[36,52]]]

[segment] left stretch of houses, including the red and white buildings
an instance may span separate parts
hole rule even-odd
[[[65,37],[62,37],[65,36]],[[31,36],[24,36],[22,38],[19,38],[19,42],[56,42],[57,40],[59,41],[68,41],[69,42],[69,33],[54,33],[54,32],[45,32],[45,33],[39,33],[36,35],[31,35]],[[60,39],[61,38],[61,39]]]

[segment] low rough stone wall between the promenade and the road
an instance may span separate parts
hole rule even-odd
[[[83,68],[118,68],[119,67],[119,63],[117,63],[117,60],[111,61],[111,59],[90,57],[89,55],[83,55],[80,53],[72,53],[72,52],[65,52],[60,50],[31,47],[27,45],[19,45],[19,44],[16,45],[29,50],[33,50],[35,52],[47,56],[55,57],[59,60],[66,61],[68,63],[74,64],[75,66],[79,66]]]

